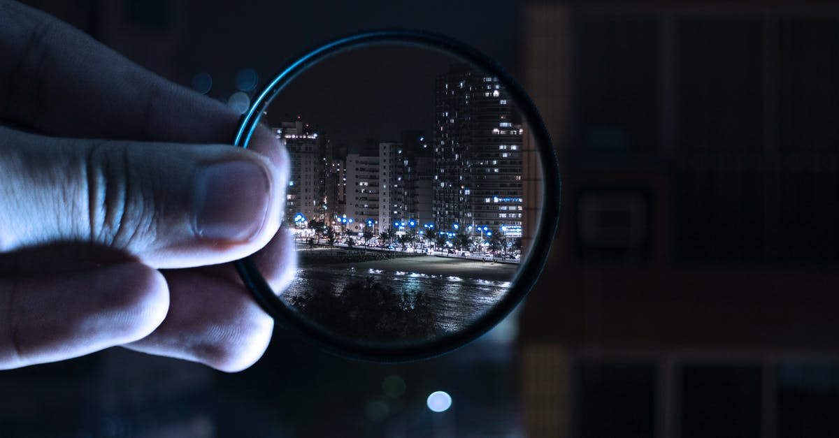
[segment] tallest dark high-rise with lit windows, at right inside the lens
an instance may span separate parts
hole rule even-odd
[[[490,227],[520,236],[523,133],[498,78],[466,65],[452,65],[436,78],[433,182],[440,231]]]

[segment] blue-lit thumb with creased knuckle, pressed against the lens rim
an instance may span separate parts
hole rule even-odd
[[[0,175],[0,251],[91,242],[154,268],[225,263],[262,248],[279,229],[286,178],[262,155],[230,145],[3,127]]]

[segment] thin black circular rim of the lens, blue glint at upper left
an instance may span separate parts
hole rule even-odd
[[[295,310],[284,304],[279,295],[259,273],[252,256],[234,262],[242,282],[251,291],[255,300],[275,321],[284,322],[294,331],[314,341],[329,352],[343,357],[351,357],[372,362],[408,362],[429,357],[436,357],[451,352],[458,347],[472,342],[478,336],[498,325],[528,295],[545,267],[545,260],[550,252],[550,245],[556,232],[560,216],[560,172],[555,150],[550,142],[550,135],[533,101],[524,92],[522,86],[503,69],[501,65],[471,46],[456,39],[431,34],[424,31],[404,29],[373,30],[351,34],[322,44],[315,50],[294,59],[273,80],[263,88],[253,105],[242,116],[233,144],[247,148],[253,131],[268,105],[283,88],[294,78],[331,55],[343,51],[361,48],[372,44],[417,45],[461,58],[473,66],[487,71],[505,86],[511,98],[530,128],[539,152],[543,176],[543,205],[539,218],[539,228],[534,236],[534,246],[526,259],[522,260],[522,269],[513,280],[513,285],[504,297],[462,331],[436,336],[427,342],[407,342],[404,344],[381,342],[360,342],[336,336],[315,323],[308,321]]]

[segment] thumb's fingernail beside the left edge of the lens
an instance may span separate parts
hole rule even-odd
[[[195,184],[195,231],[201,237],[246,242],[262,229],[270,183],[262,166],[248,161],[211,164]]]

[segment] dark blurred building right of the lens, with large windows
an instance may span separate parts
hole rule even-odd
[[[560,235],[529,436],[839,435],[839,10],[535,3]]]

